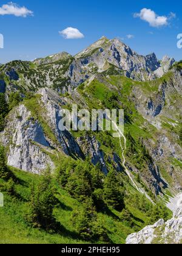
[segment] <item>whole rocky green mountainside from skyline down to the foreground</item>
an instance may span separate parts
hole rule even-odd
[[[181,204],[172,219],[166,207],[182,190],[181,95],[181,62],[137,54],[117,38],[102,37],[75,56],[1,65],[4,230],[20,222],[24,237],[28,223],[40,240],[41,230],[56,230],[63,243],[68,236],[125,243],[131,233],[127,243],[181,243]],[[60,130],[59,112],[72,105],[90,113],[123,109],[122,137]]]

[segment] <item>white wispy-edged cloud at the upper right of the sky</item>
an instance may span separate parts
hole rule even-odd
[[[168,21],[171,18],[175,18],[175,13],[170,13],[170,16],[159,16],[153,10],[150,9],[142,9],[140,13],[134,14],[135,18],[141,18],[141,20],[147,21],[151,27],[162,27],[167,26]]]

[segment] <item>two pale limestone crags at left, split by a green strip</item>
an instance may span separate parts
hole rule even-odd
[[[60,103],[58,94],[49,88],[41,89],[38,93],[41,95],[39,103],[45,108],[44,118],[58,143],[55,144],[50,138],[45,138],[41,125],[24,104],[10,112],[5,130],[0,137],[1,143],[9,148],[8,165],[33,173],[41,173],[47,166],[54,169],[49,157],[49,153],[55,154],[52,148],[66,155],[84,158],[72,135],[68,131],[59,130],[61,107],[58,105]]]

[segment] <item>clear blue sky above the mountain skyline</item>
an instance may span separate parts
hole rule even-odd
[[[182,59],[182,49],[177,48],[177,35],[182,34],[181,1],[13,2],[17,4],[14,5],[17,10],[20,7],[26,9],[12,13],[12,9],[3,7],[8,0],[0,1],[0,34],[4,35],[0,63],[15,59],[33,60],[61,51],[76,54],[103,35],[110,39],[121,38],[143,55],[155,52],[159,59],[165,54]],[[153,20],[152,11],[156,15]],[[67,27],[78,29],[79,38],[65,39],[66,35],[63,37],[59,32]]]

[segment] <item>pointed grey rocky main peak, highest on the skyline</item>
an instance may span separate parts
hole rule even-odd
[[[111,67],[116,67],[130,78],[147,80],[149,77],[152,78],[150,68],[154,69],[156,62],[157,60],[152,66],[152,57],[136,54],[118,39],[101,38],[75,56],[70,67],[72,70],[67,75],[70,76],[72,84],[76,86],[87,80],[95,71],[103,73]]]

